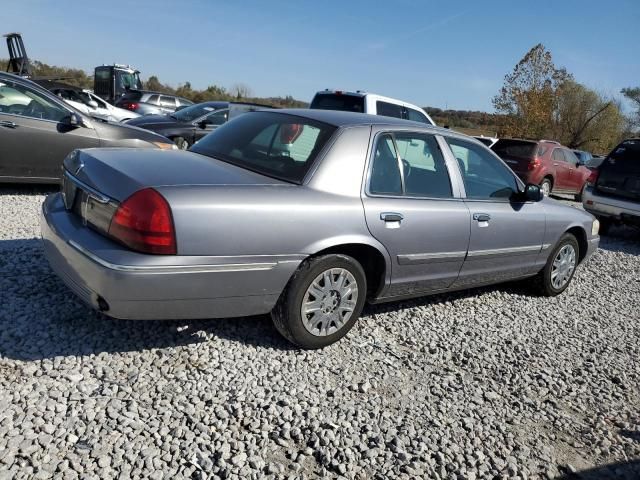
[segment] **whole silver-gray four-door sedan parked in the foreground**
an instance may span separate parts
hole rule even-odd
[[[365,114],[253,112],[188,152],[79,150],[64,168],[42,236],[81,299],[115,318],[271,312],[304,348],[367,300],[525,277],[557,295],[599,241],[479,142]]]

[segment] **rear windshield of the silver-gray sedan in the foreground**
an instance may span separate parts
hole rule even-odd
[[[296,115],[249,112],[218,127],[192,152],[269,177],[302,183],[336,127]]]

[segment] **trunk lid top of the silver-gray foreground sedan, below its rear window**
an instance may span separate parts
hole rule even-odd
[[[288,185],[215,158],[181,150],[90,148],[72,153],[64,165],[80,181],[118,201],[145,187]]]

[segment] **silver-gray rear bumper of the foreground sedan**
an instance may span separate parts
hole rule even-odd
[[[83,302],[121,319],[268,313],[302,261],[302,256],[131,252],[83,226],[65,210],[59,194],[46,198],[40,224],[45,256],[55,273]]]

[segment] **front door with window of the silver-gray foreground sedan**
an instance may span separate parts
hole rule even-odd
[[[448,137],[471,213],[469,250],[456,287],[482,285],[537,272],[545,233],[544,206],[514,201],[514,173],[483,145]]]

